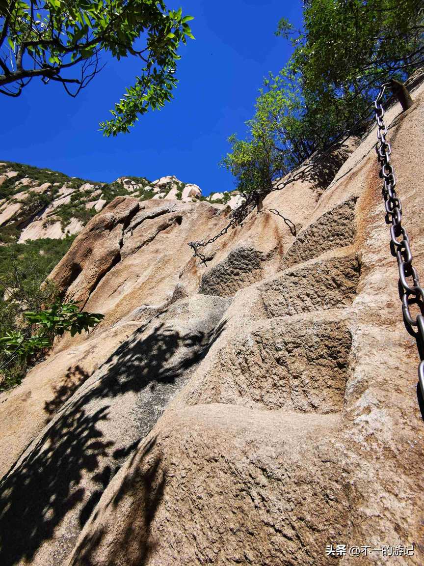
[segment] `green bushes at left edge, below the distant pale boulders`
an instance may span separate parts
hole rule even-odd
[[[103,319],[80,312],[73,301],[60,301],[47,278],[71,242],[39,239],[0,248],[0,391],[20,383],[55,336],[88,331]]]

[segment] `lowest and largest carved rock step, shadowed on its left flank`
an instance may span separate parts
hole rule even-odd
[[[116,556],[148,566],[327,564],[325,544],[346,539],[349,519],[338,422],[228,405],[167,411],[110,484],[68,566]]]

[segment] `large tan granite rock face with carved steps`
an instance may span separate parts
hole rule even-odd
[[[418,273],[423,91],[386,114]],[[272,192],[206,265],[187,242],[228,209],[120,196],[89,221],[51,277],[105,319],[0,397],[1,564],[336,564],[327,544],[423,563],[418,354],[376,139]]]

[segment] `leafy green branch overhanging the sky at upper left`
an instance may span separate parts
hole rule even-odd
[[[102,53],[131,55],[140,74],[100,124],[106,136],[128,132],[139,114],[171,100],[192,19],[163,0],[0,0],[0,92],[17,97],[39,77],[76,96],[101,70]]]

